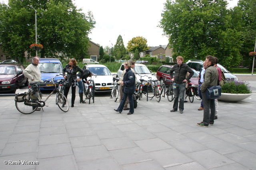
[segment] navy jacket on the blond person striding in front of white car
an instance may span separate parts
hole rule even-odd
[[[135,75],[130,68],[124,73],[124,93],[133,94],[135,91]]]

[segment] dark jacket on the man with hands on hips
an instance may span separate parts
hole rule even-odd
[[[175,64],[172,69],[170,70],[170,77],[173,78],[172,72],[175,71],[174,74],[174,82],[181,83],[183,80],[190,80],[190,78],[193,76],[194,71],[187,65],[182,63],[180,66],[178,64]],[[189,72],[189,76],[186,78],[186,74]]]

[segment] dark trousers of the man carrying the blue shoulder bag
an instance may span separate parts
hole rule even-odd
[[[215,99],[207,99],[206,91],[202,92],[202,100],[204,104],[204,119],[203,122],[205,125],[209,123],[214,123],[215,116]]]

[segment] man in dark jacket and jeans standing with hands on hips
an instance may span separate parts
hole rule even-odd
[[[186,88],[186,82],[190,80],[193,76],[194,71],[187,65],[183,63],[183,57],[178,56],[176,58],[177,64],[175,64],[170,70],[170,78],[174,82],[173,84],[173,93],[174,93],[174,104],[171,112],[178,110],[178,102],[180,97],[179,109],[180,113],[183,113],[184,110],[184,93]],[[174,78],[172,72],[175,71]],[[189,72],[188,77],[186,78],[186,73]]]

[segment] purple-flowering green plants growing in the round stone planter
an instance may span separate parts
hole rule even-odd
[[[250,90],[249,82],[246,81],[227,81],[221,88],[222,93],[232,94],[249,94]]]

